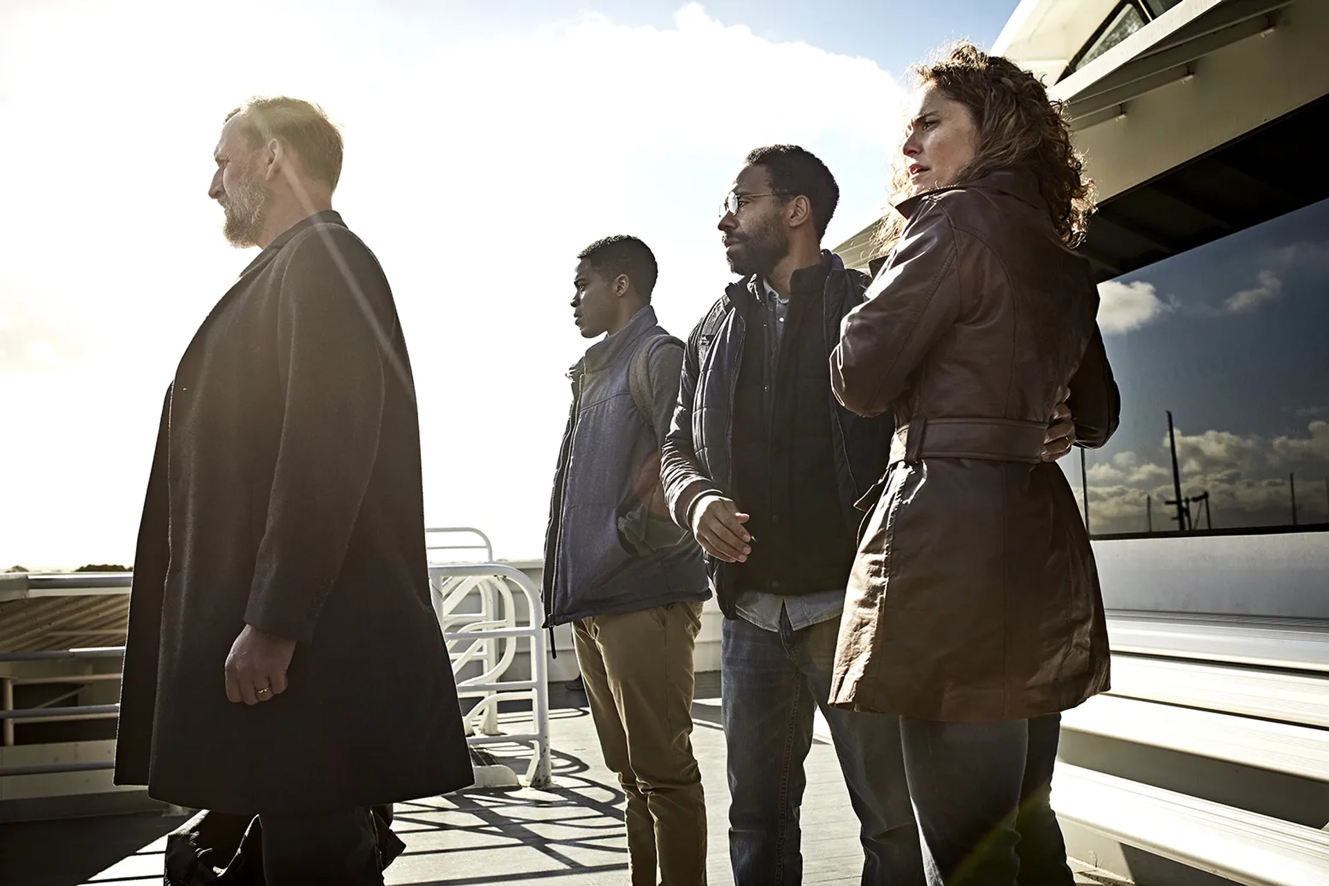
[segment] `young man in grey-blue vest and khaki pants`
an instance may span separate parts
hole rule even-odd
[[[569,372],[545,627],[573,623],[605,764],[627,796],[633,886],[694,886],[706,882],[706,802],[690,740],[692,650],[710,591],[659,486],[683,343],[655,321],[643,242],[609,236],[577,258],[573,320],[583,337],[605,337]]]

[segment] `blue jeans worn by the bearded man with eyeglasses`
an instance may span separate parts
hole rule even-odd
[[[831,725],[849,801],[861,824],[864,886],[924,882],[900,751],[900,720],[827,707],[840,619],[779,631],[724,619],[722,715],[728,747],[730,861],[735,886],[803,882],[799,808],[815,707]]]

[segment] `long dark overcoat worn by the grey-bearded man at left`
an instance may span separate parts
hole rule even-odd
[[[470,784],[429,603],[415,385],[392,292],[336,213],[276,238],[185,351],[134,559],[116,782],[234,813]],[[226,699],[245,624],[290,688]]]

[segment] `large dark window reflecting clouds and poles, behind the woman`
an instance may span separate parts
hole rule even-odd
[[[1122,424],[1062,461],[1091,534],[1176,531],[1177,482],[1185,529],[1329,523],[1329,201],[1099,292]]]

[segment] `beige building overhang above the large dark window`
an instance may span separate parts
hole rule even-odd
[[[1025,0],[994,52],[1065,70],[1114,7]],[[1329,198],[1325,46],[1321,0],[1183,0],[1050,88],[1095,182],[1096,279]],[[837,248],[847,264],[869,264],[874,230]]]

